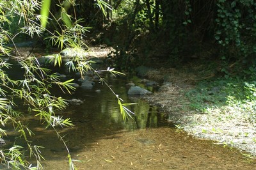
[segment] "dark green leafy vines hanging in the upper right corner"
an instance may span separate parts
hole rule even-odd
[[[255,55],[255,1],[218,1],[215,38],[228,57]]]

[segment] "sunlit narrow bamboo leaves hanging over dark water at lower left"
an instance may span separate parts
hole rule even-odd
[[[65,109],[67,102],[60,97],[54,97],[49,92],[51,84],[60,84],[64,88],[68,87],[68,82],[60,83],[58,77],[49,75],[49,69],[40,67],[36,58],[27,58],[19,60],[21,68],[24,70],[24,79],[12,80],[8,77],[8,73],[4,72],[4,68],[9,68],[10,65],[6,61],[1,61],[1,94],[4,98],[0,100],[0,117],[1,125],[12,123],[15,130],[19,132],[20,137],[27,142],[29,155],[36,157],[37,160],[42,158],[40,154],[40,146],[33,146],[28,141],[28,136],[33,136],[33,132],[19,121],[20,116],[24,113],[17,112],[13,107],[19,107],[15,102],[17,98],[24,101],[28,105],[28,111],[33,111],[35,116],[44,120],[46,127],[55,126],[72,126],[68,119],[62,119],[55,116],[55,111]],[[1,131],[2,135],[6,132]],[[29,167],[28,162],[24,159],[22,146],[13,146],[8,150],[1,150],[2,164],[11,164],[12,168],[19,169],[20,167]],[[39,162],[38,162],[39,164]],[[32,167],[29,167],[30,169]]]

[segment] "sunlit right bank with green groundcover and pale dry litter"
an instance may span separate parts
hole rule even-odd
[[[250,68],[251,71],[253,68]],[[207,72],[207,71],[205,71]],[[246,157],[255,156],[256,82],[247,76],[224,74],[197,81],[185,92],[189,110],[195,111],[186,129],[197,137],[211,138],[224,146],[235,146]],[[254,157],[255,158],[255,157]]]

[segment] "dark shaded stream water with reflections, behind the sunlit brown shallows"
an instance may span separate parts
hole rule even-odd
[[[8,70],[9,71],[9,70]],[[17,74],[21,73],[21,74]],[[13,69],[10,70],[10,76],[13,79],[22,79],[22,72],[20,66],[14,64]],[[107,86],[95,82],[92,89],[78,88],[72,95],[63,94],[61,90],[53,89],[52,92],[56,96],[62,96],[68,100],[72,98],[83,101],[81,105],[69,105],[64,111],[57,112],[57,116],[70,118],[75,127],[74,128],[60,128],[61,135],[65,135],[70,151],[84,150],[93,147],[93,143],[99,139],[108,139],[109,135],[119,134],[120,130],[131,132],[136,129],[146,127],[160,127],[164,125],[164,114],[157,111],[157,107],[150,107],[147,102],[138,98],[129,98],[127,96],[127,87],[125,84],[128,81],[127,77],[112,77],[106,76],[106,81],[117,93],[125,103],[137,102],[138,105],[129,107],[135,113],[133,119],[124,121],[120,114],[119,105],[116,97],[111,93]],[[97,92],[96,92],[97,91]],[[20,111],[26,113],[24,121],[33,130],[35,136],[29,139],[33,144],[45,146],[43,155],[46,160],[65,160],[67,151],[63,144],[57,139],[54,130],[45,129],[42,122],[38,120],[33,113],[27,111],[26,106],[19,107]],[[19,144],[26,148],[26,143],[22,139],[17,138],[17,133],[13,127],[9,128],[10,133],[6,137],[9,144],[5,146],[7,149],[13,143]],[[85,148],[84,148],[85,147]],[[56,157],[58,155],[58,157]],[[61,155],[61,156],[60,156]],[[62,157],[63,156],[63,157]],[[1,167],[3,169],[3,167]]]

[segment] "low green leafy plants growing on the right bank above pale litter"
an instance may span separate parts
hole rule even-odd
[[[249,114],[249,120],[256,121],[255,81],[246,82],[244,79],[232,77],[202,81],[186,95],[191,101],[191,107],[197,111],[207,112],[210,108],[230,105],[234,109],[244,109]]]

